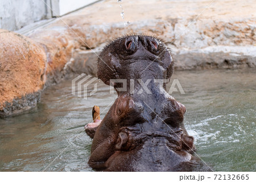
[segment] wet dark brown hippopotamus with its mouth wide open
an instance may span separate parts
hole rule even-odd
[[[97,76],[117,99],[104,119],[85,126],[93,138],[89,166],[96,171],[208,171],[193,155],[184,127],[185,106],[166,92],[174,59],[162,40],[127,35],[107,44]],[[94,113],[98,107],[93,108]],[[94,117],[95,118],[95,117]]]

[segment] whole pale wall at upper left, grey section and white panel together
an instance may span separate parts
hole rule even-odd
[[[67,14],[97,1],[0,0],[0,28],[10,31],[19,30],[28,24]]]

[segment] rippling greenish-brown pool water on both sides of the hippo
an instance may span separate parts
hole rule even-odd
[[[185,127],[197,154],[214,171],[256,171],[255,72],[180,71],[172,77],[185,92],[172,96],[187,107]],[[0,119],[0,171],[93,171],[84,125],[92,122],[93,105],[103,118],[117,96],[102,82],[88,100],[71,91],[71,80],[63,81],[44,90],[35,109]]]

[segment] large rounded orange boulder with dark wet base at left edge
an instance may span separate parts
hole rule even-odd
[[[36,105],[46,82],[46,54],[33,40],[0,30],[0,116]]]

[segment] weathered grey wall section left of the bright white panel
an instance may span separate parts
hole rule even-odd
[[[0,28],[18,30],[27,24],[45,19],[46,5],[42,0],[0,0]]]

